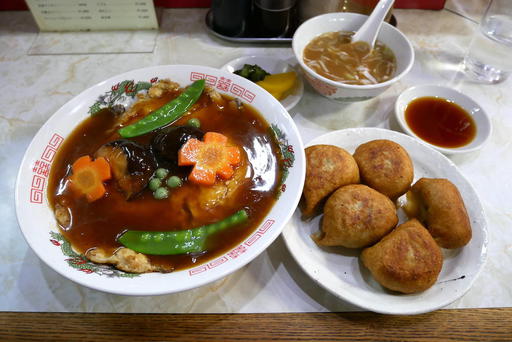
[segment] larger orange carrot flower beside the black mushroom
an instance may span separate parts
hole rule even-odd
[[[201,185],[213,185],[217,176],[230,179],[240,161],[240,149],[216,132],[207,132],[203,141],[189,139],[178,152],[178,165],[194,165],[188,179]]]

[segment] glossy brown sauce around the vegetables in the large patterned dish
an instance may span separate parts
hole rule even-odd
[[[162,104],[161,99],[155,101]],[[182,230],[219,221],[242,208],[248,211],[247,223],[212,236],[208,242],[209,249],[200,255],[149,256],[155,264],[179,270],[229,251],[261,224],[275,203],[280,177],[279,149],[269,135],[269,125],[251,106],[244,105],[240,110],[225,106],[219,110],[205,94],[200,101],[203,108],[175,125],[183,125],[192,116],[197,117],[204,132],[223,133],[243,148],[252,171],[247,173],[249,176],[246,178],[249,179],[240,185],[243,188],[236,192],[236,198],[214,209],[195,207],[194,215],[187,213],[191,210],[187,207],[187,201],[196,200],[201,189],[190,182],[171,190],[166,200],[154,199],[152,192],[146,188],[136,198],[127,201],[112,181],[105,184],[107,195],[95,202],[89,203],[83,197],[76,198],[66,186],[70,165],[80,156],[92,156],[103,144],[119,139],[113,129],[116,120],[113,113],[103,110],[79,124],[66,138],[51,168],[48,199],[54,209],[57,203],[69,208],[71,224],[60,228],[75,250],[85,253],[92,248],[103,248],[113,253],[121,246],[116,237],[127,229]],[[134,140],[147,144],[154,134],[148,133]],[[197,201],[194,203],[197,205]],[[201,209],[199,214],[197,209]]]

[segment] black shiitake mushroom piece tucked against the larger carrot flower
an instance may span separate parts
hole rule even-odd
[[[193,126],[170,126],[158,132],[151,141],[151,151],[158,167],[174,173],[182,173],[178,168],[178,151],[189,139],[201,140],[204,132]],[[188,170],[188,168],[187,168]]]

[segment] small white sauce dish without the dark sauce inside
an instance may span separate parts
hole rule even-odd
[[[467,145],[455,148],[445,148],[430,144],[418,137],[409,127],[405,120],[405,110],[407,105],[411,103],[414,99],[420,97],[438,97],[443,98],[448,101],[451,101],[455,104],[461,106],[466,112],[469,113],[473,117],[473,120],[476,124],[476,136],[475,138]],[[420,85],[411,87],[397,98],[395,102],[395,115],[398,123],[402,127],[405,133],[410,136],[415,137],[418,140],[421,140],[423,143],[429,145],[432,148],[444,153],[444,154],[457,154],[457,153],[465,153],[478,150],[481,148],[485,142],[489,139],[492,133],[492,125],[489,120],[489,116],[485,112],[485,110],[480,107],[478,103],[473,101],[467,95],[464,95],[457,90],[452,88],[442,87],[438,85]]]

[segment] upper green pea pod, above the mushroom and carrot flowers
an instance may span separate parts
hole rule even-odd
[[[204,79],[195,81],[174,100],[169,101],[139,121],[119,129],[119,135],[123,138],[132,138],[175,121],[196,103],[203,93],[204,86]]]

